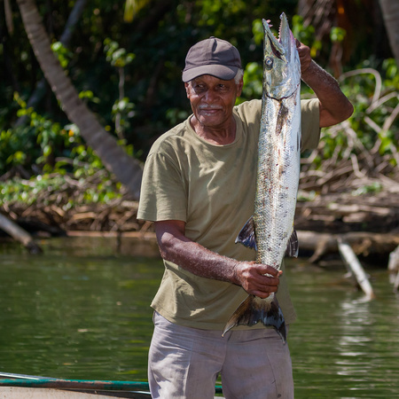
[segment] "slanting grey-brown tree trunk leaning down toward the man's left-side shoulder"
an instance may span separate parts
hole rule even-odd
[[[35,0],[17,0],[17,3],[35,57],[62,109],[69,120],[80,129],[87,144],[98,153],[106,168],[127,186],[135,199],[138,199],[142,177],[141,165],[125,153],[116,139],[100,125],[95,115],[79,98],[74,85],[51,51],[50,39],[43,27]]]

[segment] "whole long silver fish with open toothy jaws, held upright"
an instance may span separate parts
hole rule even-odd
[[[301,156],[301,64],[286,15],[283,13],[280,19],[278,39],[268,22],[262,21],[262,121],[254,215],[236,239],[256,250],[256,262],[277,270],[285,254],[298,254],[293,216]],[[235,325],[255,325],[259,321],[276,328],[286,341],[286,323],[274,293],[266,299],[250,294],[231,316],[223,334]]]

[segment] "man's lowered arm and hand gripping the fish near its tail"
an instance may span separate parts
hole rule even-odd
[[[168,220],[155,222],[154,225],[163,259],[197,276],[242,286],[247,293],[260,298],[277,292],[280,272],[271,266],[239,262],[208,250],[185,237],[185,223],[182,221]],[[263,276],[266,273],[273,277]]]

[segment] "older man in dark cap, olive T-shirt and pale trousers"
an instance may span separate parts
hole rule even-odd
[[[309,47],[297,41],[297,49],[302,80],[317,95],[301,101],[301,145],[316,148],[320,128],[353,107]],[[220,374],[226,398],[293,398],[291,357],[276,330],[258,323],[222,336],[248,293],[278,291],[286,325],[295,319],[284,272],[235,244],[254,211],[262,101],[235,106],[244,84],[239,51],[216,37],[188,51],[183,82],[192,115],[154,143],[138,208],[139,219],[154,222],[165,265],[152,303],[151,393],[213,398]]]

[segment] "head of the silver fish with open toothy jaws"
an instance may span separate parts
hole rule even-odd
[[[278,38],[262,20],[264,32],[263,93],[270,98],[288,98],[301,84],[301,62],[286,14],[280,16]]]

